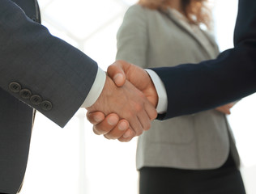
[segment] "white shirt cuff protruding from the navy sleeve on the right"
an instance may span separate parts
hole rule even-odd
[[[154,83],[156,87],[156,92],[158,95],[158,103],[156,107],[156,111],[159,114],[163,114],[167,111],[168,106],[168,99],[167,99],[167,93],[165,90],[164,82],[160,79],[158,74],[156,74],[153,70],[146,69],[147,74],[151,77],[152,82]]]

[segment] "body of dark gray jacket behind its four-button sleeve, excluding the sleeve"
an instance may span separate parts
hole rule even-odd
[[[17,1],[36,20],[36,2]],[[38,21],[40,18],[38,17]],[[33,109],[0,88],[0,192],[16,193],[26,171]]]

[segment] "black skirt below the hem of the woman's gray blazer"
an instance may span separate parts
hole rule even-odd
[[[214,170],[143,167],[139,175],[139,194],[245,194],[231,154]]]

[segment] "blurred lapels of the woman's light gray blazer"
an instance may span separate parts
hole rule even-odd
[[[161,12],[163,12],[169,19],[173,21],[173,23],[177,24],[178,27],[181,27],[181,29],[184,32],[188,33],[195,41],[197,41],[198,44],[203,48],[203,50],[207,54],[207,57],[212,58],[212,53],[208,52],[208,49],[202,43],[202,40],[198,38],[198,36],[194,35],[194,32],[190,29],[190,27],[188,27],[185,23],[182,23],[180,19],[177,19],[177,17],[173,15],[173,12],[170,9],[168,9],[167,11],[161,11]],[[201,30],[201,32],[203,32],[203,30]],[[216,47],[216,44],[215,44],[215,40],[213,40],[211,36],[209,36],[206,32],[203,32],[203,35],[206,36],[207,40],[209,40],[210,43],[214,46],[214,48],[216,48],[216,54],[219,53],[218,48]]]

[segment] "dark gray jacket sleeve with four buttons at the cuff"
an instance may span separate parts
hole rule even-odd
[[[87,97],[98,69],[9,0],[0,6],[0,64],[1,88],[61,127]]]

